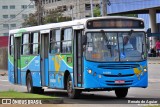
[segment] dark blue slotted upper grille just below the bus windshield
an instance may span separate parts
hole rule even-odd
[[[140,67],[139,64],[101,64],[98,68],[103,69],[132,69]]]

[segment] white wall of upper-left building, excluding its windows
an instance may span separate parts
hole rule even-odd
[[[0,0],[0,36],[5,36],[4,33],[8,33],[9,29],[22,27],[21,24],[24,22],[22,15],[35,12],[34,2],[30,3],[30,0]],[[29,8],[29,4],[34,6],[34,8]],[[15,9],[10,9],[11,5],[15,5]],[[23,9],[22,5],[28,6],[27,9]],[[8,6],[8,9],[3,9],[3,6]],[[17,15],[18,13],[20,14]],[[8,15],[8,18],[3,18],[3,15]],[[11,19],[10,15],[16,15],[16,17]],[[8,24],[9,27],[4,27],[4,24]],[[11,24],[12,26],[16,24],[16,27],[12,27]]]

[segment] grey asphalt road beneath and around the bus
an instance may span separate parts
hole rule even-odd
[[[57,96],[64,99],[67,104],[121,104],[129,99],[160,98],[160,64],[159,61],[149,61],[149,86],[148,88],[130,88],[125,99],[117,99],[114,91],[83,92],[79,99],[69,99],[66,91],[46,89],[45,95]],[[154,64],[152,64],[154,63]],[[26,92],[25,86],[12,85],[7,76],[0,76],[0,91],[16,90]]]

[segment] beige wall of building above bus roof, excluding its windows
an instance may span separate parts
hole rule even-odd
[[[51,10],[55,9],[58,6],[64,6],[66,5],[68,7],[67,11],[65,11],[63,14],[64,16],[74,17],[74,19],[81,19],[86,16],[91,16],[90,10],[85,10],[85,4],[90,4],[90,0],[59,0],[55,1],[53,0],[42,0],[44,9],[45,10]],[[46,3],[46,1],[48,1]],[[49,3],[50,1],[50,3]],[[93,0],[93,4],[99,4],[99,0]],[[69,8],[71,5],[74,6],[73,11]]]

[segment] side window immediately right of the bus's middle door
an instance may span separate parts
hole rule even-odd
[[[50,53],[60,53],[60,30],[52,30],[50,36]]]

